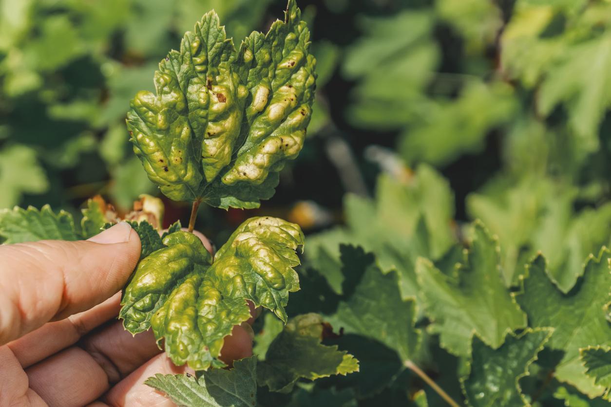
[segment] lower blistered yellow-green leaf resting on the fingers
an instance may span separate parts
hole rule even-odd
[[[172,232],[137,265],[119,317],[133,334],[152,327],[177,365],[222,367],[224,337],[251,315],[246,300],[287,321],[288,293],[299,289],[295,250],[303,244],[299,226],[255,217],[233,232],[213,262],[199,238]]]

